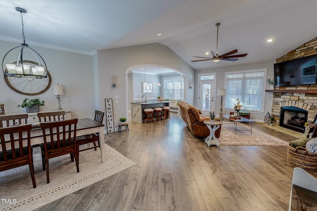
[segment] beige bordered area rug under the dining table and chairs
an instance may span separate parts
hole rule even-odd
[[[136,165],[106,144],[104,156],[101,163],[99,148],[81,152],[78,173],[69,155],[50,159],[47,184],[41,154],[34,154],[36,188],[28,166],[0,172],[0,210],[31,211]]]

